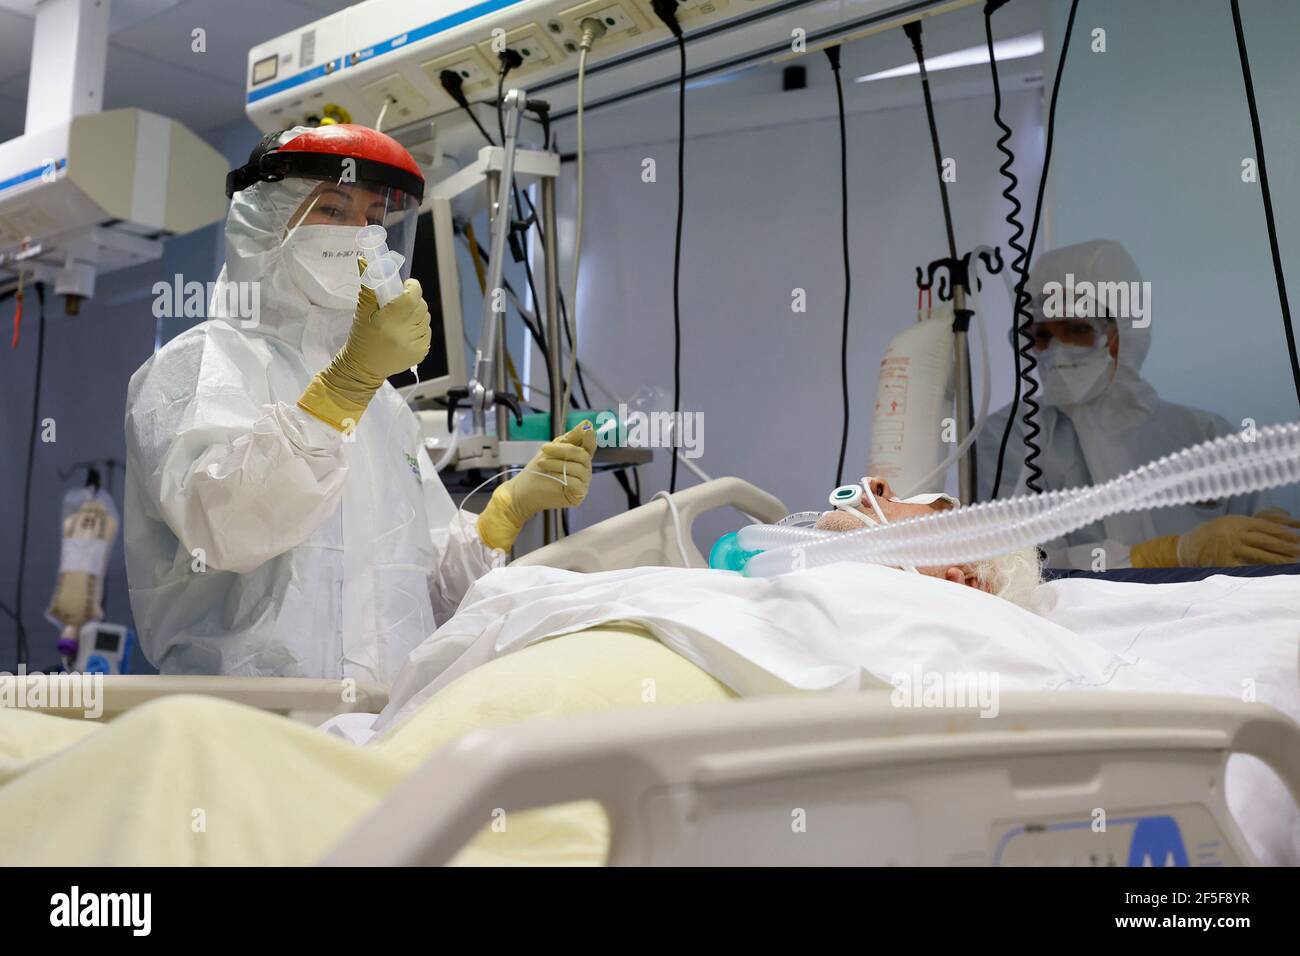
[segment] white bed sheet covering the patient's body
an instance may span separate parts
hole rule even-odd
[[[611,620],[645,626],[742,696],[890,687],[920,669],[996,674],[1005,691],[1240,698],[1253,689],[1300,719],[1300,579],[1072,579],[1040,596],[1041,617],[950,581],[854,563],[768,579],[499,568],[411,654],[376,728],[494,657]],[[1228,803],[1261,860],[1300,864],[1296,806],[1270,770],[1235,757]]]

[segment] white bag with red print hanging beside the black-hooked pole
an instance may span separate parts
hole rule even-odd
[[[946,306],[900,332],[885,349],[867,473],[904,494],[937,468],[950,451],[944,424],[953,418],[954,394],[953,311]],[[941,492],[942,480],[936,476],[936,488],[916,492]]]

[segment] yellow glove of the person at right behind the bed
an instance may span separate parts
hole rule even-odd
[[[1239,567],[1300,561],[1300,522],[1282,509],[1247,518],[1223,515],[1192,528],[1135,545],[1134,567]]]

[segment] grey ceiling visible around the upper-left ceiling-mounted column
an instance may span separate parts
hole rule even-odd
[[[356,0],[112,0],[104,107],[138,107],[196,133],[243,116],[248,48]],[[27,112],[31,3],[0,0],[0,142]],[[195,27],[207,52],[191,51]]]

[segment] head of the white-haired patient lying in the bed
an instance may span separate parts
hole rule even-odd
[[[844,494],[837,501],[841,492],[848,489],[857,489],[859,494]],[[889,483],[879,477],[864,477],[858,486],[841,485],[832,494],[832,502],[836,510],[827,511],[818,519],[815,527],[819,531],[861,531],[863,525],[889,524],[961,506],[946,494],[900,498]],[[1043,580],[1043,562],[1035,548],[968,564],[918,567],[915,571],[997,594],[1030,610],[1034,610],[1034,592]]]

